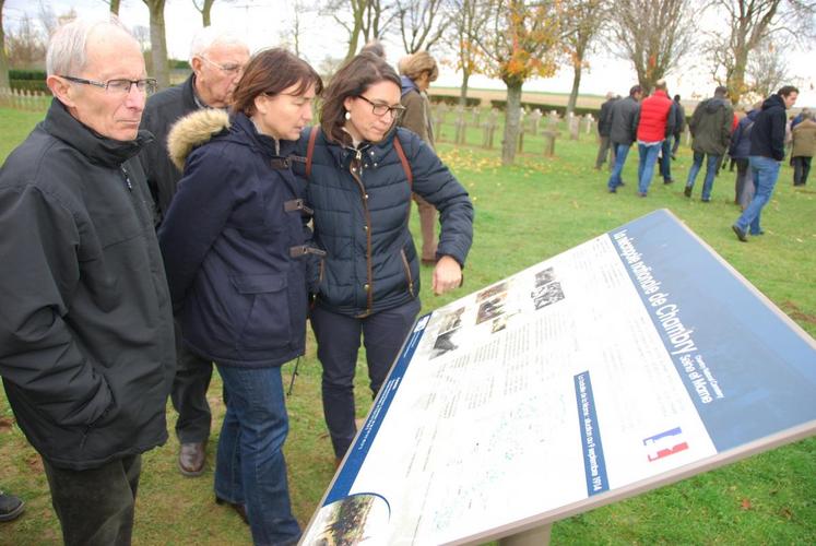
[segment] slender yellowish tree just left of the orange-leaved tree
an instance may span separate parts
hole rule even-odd
[[[480,72],[480,49],[476,39],[488,19],[487,3],[483,0],[450,0],[448,17],[450,31],[442,39],[456,54],[456,68],[462,72],[459,104],[468,102],[468,82],[471,74]]]

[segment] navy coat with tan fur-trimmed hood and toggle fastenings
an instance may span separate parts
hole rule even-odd
[[[272,367],[304,353],[310,254],[292,145],[222,110],[170,133],[187,163],[158,239],[184,341],[215,363]]]

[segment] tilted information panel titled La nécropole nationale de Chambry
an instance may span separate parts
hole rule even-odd
[[[304,544],[485,541],[816,431],[816,343],[667,211],[421,318]]]

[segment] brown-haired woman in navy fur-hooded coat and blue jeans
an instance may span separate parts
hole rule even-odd
[[[215,499],[248,518],[256,544],[289,544],[281,366],[303,355],[308,306],[304,187],[288,156],[322,88],[283,49],[257,54],[232,112],[199,110],[170,132],[184,177],[159,229],[184,343],[224,383]]]

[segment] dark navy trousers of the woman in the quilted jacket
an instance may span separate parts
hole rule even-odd
[[[358,319],[317,306],[311,310],[311,329],[323,367],[323,415],[334,454],[342,458],[354,440],[354,372],[360,334],[366,347],[368,379],[376,396],[397,358],[402,343],[419,312],[419,300]]]

